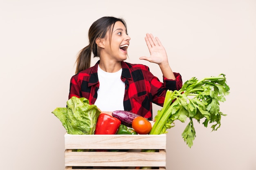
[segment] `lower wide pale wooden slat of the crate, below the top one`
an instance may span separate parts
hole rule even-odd
[[[166,152],[65,152],[65,166],[166,166]]]

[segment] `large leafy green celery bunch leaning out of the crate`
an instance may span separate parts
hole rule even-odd
[[[182,138],[191,148],[195,139],[195,128],[193,119],[200,123],[203,119],[205,127],[214,123],[211,128],[220,128],[222,116],[220,103],[225,102],[225,95],[229,94],[229,86],[226,83],[224,74],[218,77],[206,77],[200,81],[192,77],[186,81],[179,91],[167,91],[164,106],[158,110],[155,116],[155,124],[149,134],[157,135],[166,133],[168,128],[173,127],[173,121],[185,122],[189,119],[189,124],[182,133]]]

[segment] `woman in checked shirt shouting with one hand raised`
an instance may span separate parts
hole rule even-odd
[[[148,66],[124,62],[130,37],[123,19],[100,18],[88,35],[89,45],[76,60],[69,98],[85,97],[103,112],[127,110],[152,120],[152,103],[163,106],[166,91],[182,87],[181,75],[173,73],[164,47],[152,34],[145,37],[150,57],[140,59],[158,64],[164,83],[150,73]],[[92,67],[91,53],[100,59]]]

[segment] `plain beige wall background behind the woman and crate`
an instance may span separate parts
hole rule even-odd
[[[92,22],[105,15],[127,21],[127,61],[150,66],[160,79],[156,64],[138,59],[149,55],[147,32],[160,38],[184,81],[227,76],[221,128],[195,122],[189,148],[181,137],[186,124],[176,122],[166,168],[256,170],[255,0],[1,0],[1,169],[64,170],[65,129],[51,112],[65,107],[76,54]]]

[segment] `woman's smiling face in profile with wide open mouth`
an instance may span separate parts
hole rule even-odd
[[[117,21],[115,23],[111,37],[111,44],[109,38],[110,34],[108,32],[105,41],[105,50],[106,54],[108,54],[108,58],[116,61],[126,60],[130,37],[126,34],[126,27],[122,22]]]

